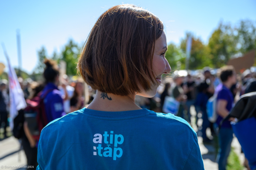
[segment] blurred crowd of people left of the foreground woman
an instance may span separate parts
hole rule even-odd
[[[60,118],[73,111],[84,108],[84,81],[80,77],[71,80],[64,74],[60,78],[57,62],[46,59],[44,64],[44,82],[35,82],[32,79],[23,80],[18,78],[20,86],[23,89],[24,98],[27,102],[27,108],[18,111],[18,116],[14,119],[14,128],[8,132],[9,125],[9,91],[8,80],[0,80],[0,125],[3,126],[3,136],[1,139],[9,137],[12,133],[17,139],[21,139],[23,149],[27,156],[27,162],[34,168],[37,167],[37,146],[39,138],[33,131],[35,119],[29,119],[39,110],[44,110],[46,115],[44,126],[54,119]],[[90,89],[90,93],[93,90]],[[43,99],[44,106],[38,102]],[[43,108],[44,107],[44,108]],[[44,118],[41,118],[42,120]],[[34,129],[35,130],[35,129]],[[37,132],[38,133],[38,132]]]

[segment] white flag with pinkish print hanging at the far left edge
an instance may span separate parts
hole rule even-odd
[[[13,129],[13,120],[18,115],[20,109],[26,108],[26,101],[24,93],[20,87],[20,83],[17,78],[17,74],[14,68],[11,67],[7,52],[4,50],[6,60],[8,62],[8,78],[9,78],[9,96],[10,96],[10,128]]]

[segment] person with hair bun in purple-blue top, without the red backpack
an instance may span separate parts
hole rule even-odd
[[[58,65],[55,61],[50,59],[46,59],[44,64],[46,65],[46,68],[44,69],[44,78],[46,81],[46,85],[41,95],[45,96],[45,113],[48,122],[51,122],[54,119],[66,115],[66,113],[64,112],[61,91],[59,91],[57,88],[59,83]]]

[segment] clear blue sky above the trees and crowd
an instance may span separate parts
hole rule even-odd
[[[82,45],[100,14],[122,3],[141,6],[159,17],[168,43],[179,44],[186,31],[207,43],[221,20],[232,25],[241,19],[256,21],[255,0],[0,0],[0,42],[17,67],[16,30],[20,29],[22,69],[32,73],[42,45],[49,56],[59,53],[70,38]],[[6,65],[2,48],[0,62]]]

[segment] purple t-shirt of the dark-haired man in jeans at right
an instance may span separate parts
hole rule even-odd
[[[227,101],[226,109],[227,109],[227,111],[231,111],[231,109],[233,107],[234,99],[233,99],[233,94],[231,93],[230,89],[228,89],[225,85],[220,84],[220,85],[217,86],[215,92],[218,94],[217,102],[220,99],[226,100]],[[218,115],[217,120],[216,120],[217,125],[220,125],[222,119],[223,119],[223,117]],[[228,121],[228,120],[224,121],[222,123],[221,127],[232,128],[231,125],[230,125],[230,121]]]

